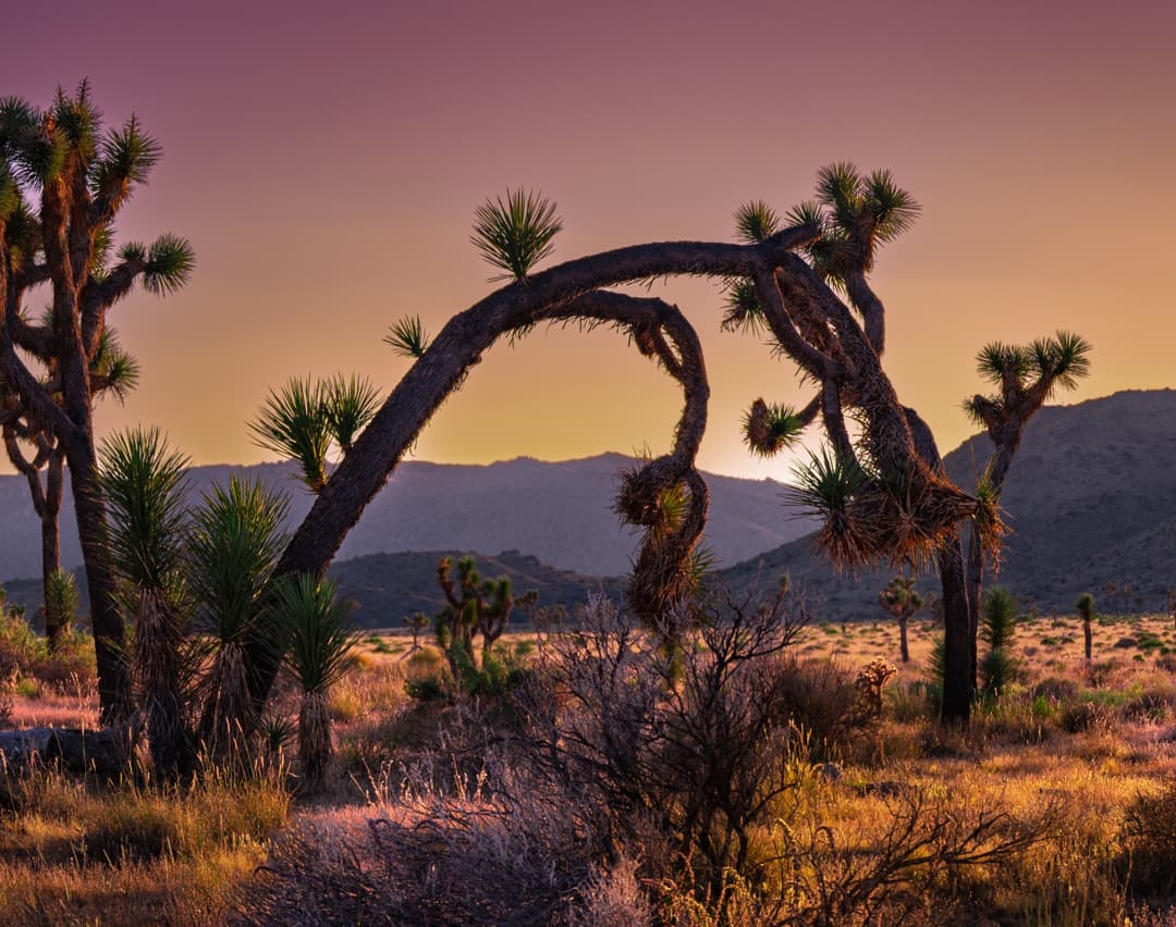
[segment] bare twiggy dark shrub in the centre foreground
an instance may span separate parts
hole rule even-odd
[[[711,899],[731,874],[757,878],[753,831],[800,775],[799,690],[780,658],[799,630],[782,592],[709,603],[695,639],[670,650],[596,598],[553,641],[546,678],[517,704],[536,774],[588,799],[595,854],[641,846],[647,876],[684,866]],[[844,688],[851,706],[851,679]]]

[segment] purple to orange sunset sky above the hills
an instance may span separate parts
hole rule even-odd
[[[1063,402],[1176,384],[1171,2],[64,0],[4,20],[0,95],[88,78],[108,122],[133,112],[163,146],[119,236],[183,235],[198,267],[112,311],[142,379],[98,424],[158,424],[194,463],[272,459],[246,423],[292,375],[390,391],[408,361],[389,324],[435,332],[499,286],[469,243],[488,197],[556,202],[548,266],[729,241],[740,203],[784,211],[834,161],[889,168],[922,204],[873,282],[884,367],[941,450],[971,434],[989,341],[1083,335],[1093,374]],[[703,340],[701,466],[787,479],[740,422],[756,397],[809,398],[793,365],[720,332],[716,284],[654,293]],[[662,452],[680,404],[615,332],[539,330],[492,349],[414,455]]]

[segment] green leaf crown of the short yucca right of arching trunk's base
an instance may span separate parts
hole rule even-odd
[[[330,579],[301,573],[280,584],[275,607],[288,633],[286,667],[303,692],[325,692],[350,667],[360,640],[347,623],[352,604],[339,600]]]

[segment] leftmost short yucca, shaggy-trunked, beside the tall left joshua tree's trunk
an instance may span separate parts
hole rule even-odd
[[[169,449],[155,428],[116,432],[100,450],[111,559],[123,609],[134,620],[131,677],[152,760],[165,775],[176,772],[187,755],[182,652],[187,469],[187,458]]]

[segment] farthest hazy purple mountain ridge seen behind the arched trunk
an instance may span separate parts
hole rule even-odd
[[[338,559],[385,551],[520,550],[563,570],[592,576],[628,572],[637,536],[613,512],[617,472],[636,461],[603,454],[543,463],[528,457],[489,465],[401,464],[350,531]],[[290,528],[310,508],[290,464],[195,466],[193,492],[230,473],[261,479],[290,497]],[[781,517],[783,484],[706,475],[710,485],[707,543],[728,564],[800,537],[804,522]],[[40,576],[40,524],[24,477],[0,476],[0,577]],[[73,504],[66,491],[61,558],[81,564]]]

